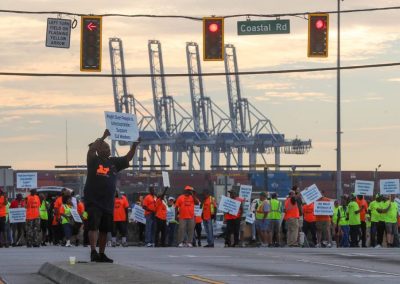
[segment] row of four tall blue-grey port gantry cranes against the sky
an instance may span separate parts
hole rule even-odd
[[[122,40],[110,38],[109,47],[112,74],[126,74]],[[173,170],[181,170],[185,165],[184,155],[189,170],[206,170],[206,152],[211,153],[211,165],[216,168],[220,166],[222,154],[227,167],[242,169],[245,151],[249,153],[249,165],[257,163],[259,154],[266,163],[264,154],[271,152],[275,153],[275,164],[279,165],[282,152],[304,154],[311,148],[311,140],[286,140],[261,111],[242,97],[233,45],[225,45],[224,60],[229,115],[205,96],[197,43],[186,43],[191,114],[167,94],[161,43],[149,40],[148,52],[154,114],[128,93],[124,76],[112,78],[115,111],[133,113],[138,119],[142,142],[134,163],[139,169],[147,159],[151,169],[157,163],[166,165],[167,152],[172,153]],[[112,151],[115,155],[115,143]]]

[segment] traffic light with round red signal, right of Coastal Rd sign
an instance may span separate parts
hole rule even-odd
[[[329,14],[308,15],[308,57],[328,57]]]

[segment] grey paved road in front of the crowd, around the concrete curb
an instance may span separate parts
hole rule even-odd
[[[125,266],[164,272],[188,283],[399,283],[400,249],[107,248]],[[0,276],[8,283],[43,283],[33,276],[44,262],[88,261],[88,248],[0,249]],[[29,279],[30,282],[26,282]],[[199,281],[196,281],[199,280]],[[203,281],[204,280],[204,281]],[[37,281],[37,282],[35,282]]]

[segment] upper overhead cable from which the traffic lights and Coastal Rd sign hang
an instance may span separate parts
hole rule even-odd
[[[359,12],[376,12],[376,11],[388,11],[388,10],[400,10],[400,6],[390,6],[390,7],[379,7],[379,8],[367,8],[367,9],[351,9],[342,10],[341,14],[345,13],[359,13]],[[84,14],[76,12],[65,12],[65,11],[18,11],[18,10],[0,10],[0,13],[8,14],[30,14],[30,15],[68,15],[68,16],[90,16],[93,14]],[[280,17],[298,17],[305,16],[313,13],[327,13],[327,14],[337,14],[338,11],[317,11],[317,12],[297,12],[297,13],[281,13],[281,14],[233,14],[219,16],[225,19],[228,18],[239,18],[239,17],[259,17],[259,18],[280,18]],[[185,15],[151,15],[151,14],[96,14],[96,16],[102,17],[124,17],[124,18],[180,18],[194,21],[201,21],[202,17],[185,16]]]

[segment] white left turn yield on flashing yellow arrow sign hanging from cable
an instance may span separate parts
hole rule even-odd
[[[69,48],[71,39],[71,20],[47,19],[46,46]]]

